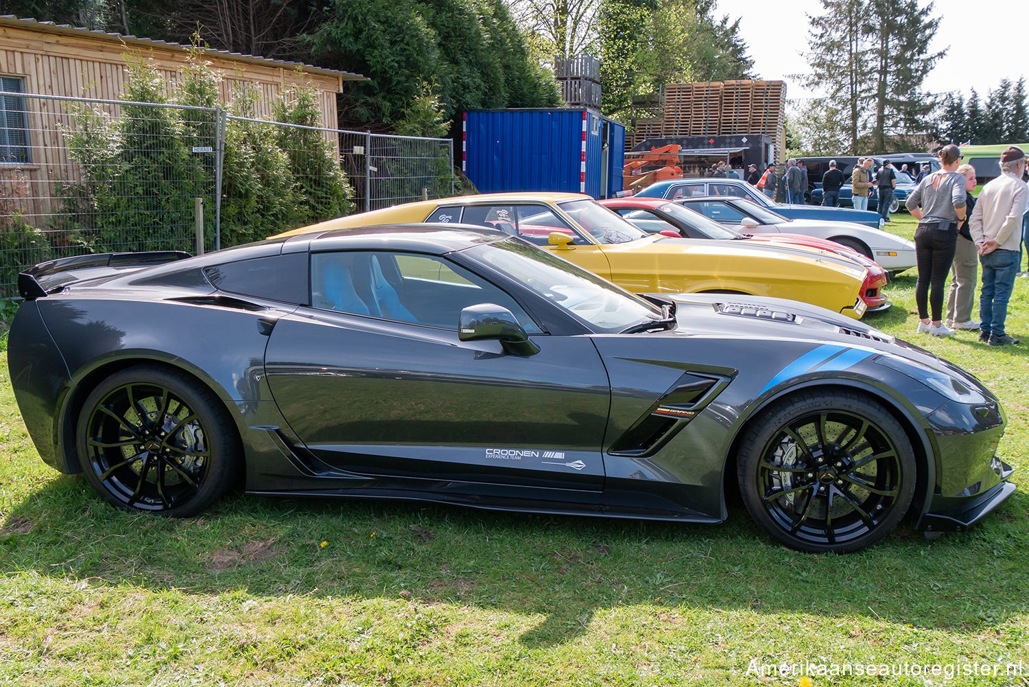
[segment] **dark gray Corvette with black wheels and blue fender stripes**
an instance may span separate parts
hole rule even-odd
[[[970,374],[792,301],[634,296],[501,232],[420,225],[21,275],[42,459],[117,507],[250,493],[720,522],[862,549],[1009,496]]]

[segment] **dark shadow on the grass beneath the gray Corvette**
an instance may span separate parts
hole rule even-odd
[[[0,527],[0,574],[188,594],[245,590],[456,604],[541,616],[521,641],[559,645],[597,610],[867,616],[974,628],[1026,613],[1029,497],[965,534],[900,527],[868,551],[781,548],[735,510],[720,526],[547,517],[353,500],[230,496],[204,517],[117,511],[60,476]]]

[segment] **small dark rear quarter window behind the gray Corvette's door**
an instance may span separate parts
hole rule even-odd
[[[307,253],[252,257],[205,268],[204,274],[218,290],[271,301],[307,304]]]

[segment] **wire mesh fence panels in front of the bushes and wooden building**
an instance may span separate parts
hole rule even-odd
[[[449,139],[0,93],[0,297],[85,252],[198,252],[454,192]]]

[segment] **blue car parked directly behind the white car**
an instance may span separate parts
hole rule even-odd
[[[821,193],[821,188],[818,190]],[[849,192],[848,192],[849,193]],[[882,217],[878,212],[855,210],[847,207],[822,207],[821,205],[787,205],[776,203],[760,190],[740,179],[666,179],[651,183],[636,194],[643,198],[689,198],[694,196],[735,196],[746,198],[762,207],[778,212],[789,219],[822,219],[827,221],[853,221],[858,225],[879,229]],[[819,202],[821,200],[819,199]],[[849,202],[849,201],[848,201]]]

